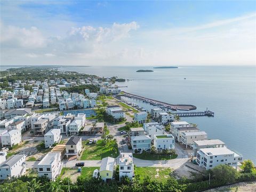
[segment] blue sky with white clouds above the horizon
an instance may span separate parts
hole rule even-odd
[[[1,65],[255,65],[255,1],[0,1]]]

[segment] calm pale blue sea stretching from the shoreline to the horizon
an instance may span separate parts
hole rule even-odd
[[[137,73],[151,69],[151,73]],[[245,159],[256,163],[256,67],[65,67],[103,77],[130,79],[117,83],[123,91],[168,103],[191,104],[197,111],[206,107],[214,117],[183,117],[182,121],[198,124],[209,139],[220,139]],[[186,79],[184,79],[186,78]]]

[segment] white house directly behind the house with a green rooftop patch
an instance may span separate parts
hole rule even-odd
[[[151,140],[154,139],[155,135],[164,134],[164,126],[160,123],[144,123],[143,129],[149,135]]]

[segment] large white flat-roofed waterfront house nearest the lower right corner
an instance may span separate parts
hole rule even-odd
[[[242,155],[239,155],[226,147],[199,149],[196,156],[197,164],[205,167],[206,170],[212,169],[220,164],[226,164],[237,168],[238,162],[242,161],[242,159]]]

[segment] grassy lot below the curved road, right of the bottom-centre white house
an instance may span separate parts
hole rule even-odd
[[[135,178],[143,180],[146,176],[154,180],[167,180],[172,169],[169,167],[135,167]]]

